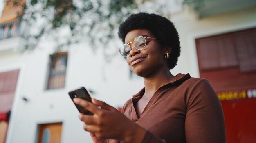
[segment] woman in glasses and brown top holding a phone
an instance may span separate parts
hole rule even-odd
[[[74,100],[94,113],[79,115],[94,143],[225,143],[222,107],[209,82],[170,73],[180,56],[173,23],[138,13],[121,24],[118,34],[126,43],[120,54],[145,87],[124,104],[123,114],[95,99]]]

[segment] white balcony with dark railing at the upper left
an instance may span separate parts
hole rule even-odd
[[[25,23],[20,18],[0,24],[0,54],[17,52],[24,48]]]

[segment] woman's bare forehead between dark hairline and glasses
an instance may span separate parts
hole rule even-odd
[[[124,39],[124,43],[132,42],[136,37],[146,35],[148,37],[154,37],[153,34],[146,29],[135,29],[131,30],[126,34],[126,37]]]

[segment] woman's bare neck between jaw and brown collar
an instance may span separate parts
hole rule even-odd
[[[162,69],[151,74],[150,76],[144,77],[145,93],[144,96],[153,96],[153,94],[162,87],[168,84],[174,78],[169,69]]]

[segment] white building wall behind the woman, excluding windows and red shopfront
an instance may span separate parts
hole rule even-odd
[[[236,9],[223,8],[220,13],[213,11],[208,15],[202,15],[204,11],[191,11],[186,6],[168,15],[180,35],[182,48],[171,73],[200,77],[195,39],[256,28],[256,3],[248,2],[251,6],[239,7],[238,3]],[[118,39],[117,43],[122,44]],[[64,51],[67,54],[64,86],[48,89],[50,55],[54,48],[45,43],[34,51],[20,52],[24,46],[25,39],[21,36],[0,39],[0,74],[18,70],[6,143],[38,142],[40,126],[52,123],[61,125],[61,143],[91,143],[68,91],[84,86],[93,98],[119,108],[143,88],[143,79],[130,75],[119,53],[106,63],[102,50],[94,52],[90,45],[81,43]]]

